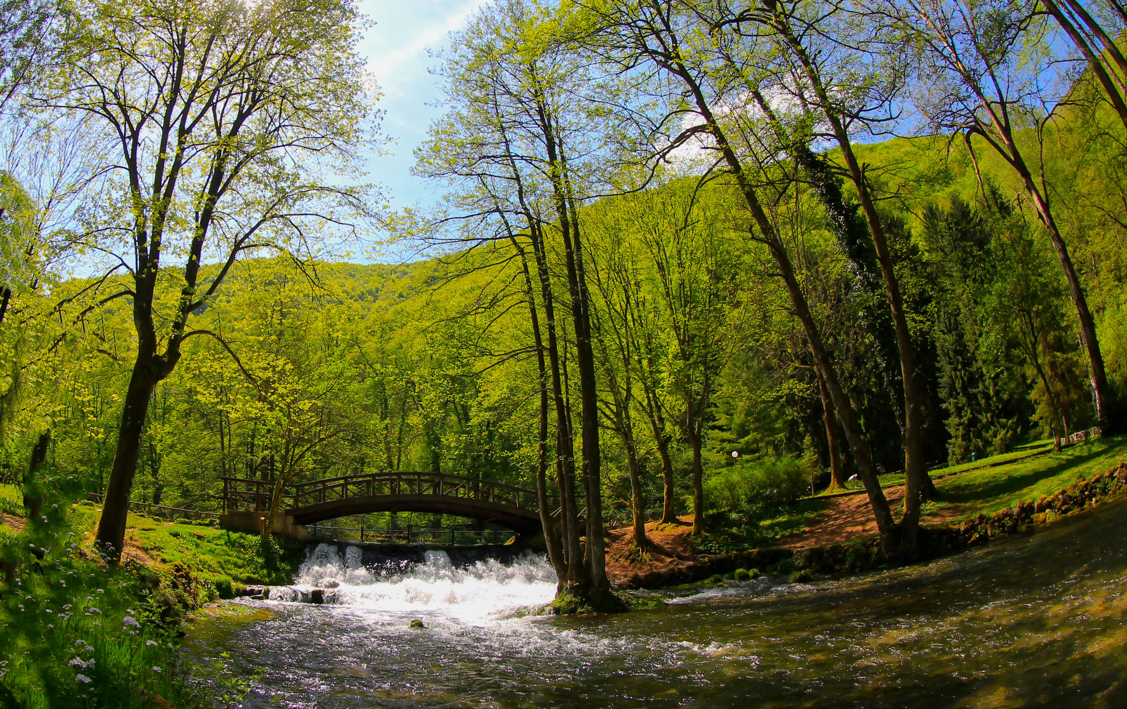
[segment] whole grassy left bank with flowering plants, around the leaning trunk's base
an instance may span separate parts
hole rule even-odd
[[[237,688],[223,666],[179,653],[181,626],[240,583],[289,581],[293,550],[256,537],[130,516],[128,556],[109,568],[85,543],[98,511],[77,481],[41,476],[39,516],[0,525],[0,708],[190,709]],[[2,486],[3,512],[14,506]],[[144,559],[152,555],[151,559]],[[137,557],[142,557],[139,561]],[[206,695],[193,677],[206,674]]]

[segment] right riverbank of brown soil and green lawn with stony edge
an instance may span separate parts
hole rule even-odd
[[[994,521],[995,515],[1018,520],[1015,523],[1020,526],[1059,516],[1058,512],[1032,509],[1042,498],[1067,495],[1070,488],[1075,493],[1079,481],[1127,461],[1127,436],[1095,438],[1061,453],[1037,451],[1029,455],[1019,452],[997,458],[984,459],[962,470],[944,471],[948,475],[935,481],[939,497],[926,503],[922,513],[922,524],[930,530],[923,535],[924,556],[966,548],[975,539],[978,526],[983,530],[1000,526]],[[885,494],[895,506],[903,500],[904,487],[886,488]],[[1035,514],[1041,516],[1035,519]],[[792,506],[763,511],[754,526],[731,524],[730,515],[712,515],[709,522],[712,523],[710,533],[700,539],[691,537],[692,524],[687,516],[681,517],[678,524],[648,523],[649,549],[642,556],[630,549],[631,528],[610,530],[607,576],[611,583],[619,588],[657,588],[738,568],[762,569],[763,566],[755,564],[767,557],[760,559],[754,551],[769,549],[786,550],[787,556],[798,555],[807,560],[806,564],[784,562],[787,573],[791,568],[822,568],[825,573],[844,568],[863,570],[880,564],[879,555],[873,555],[877,528],[866,495],[815,497]],[[980,534],[978,539],[983,539]],[[775,559],[778,553],[769,556]],[[813,559],[819,561],[813,562]],[[822,561],[824,559],[833,561]],[[729,569],[733,565],[735,569]]]

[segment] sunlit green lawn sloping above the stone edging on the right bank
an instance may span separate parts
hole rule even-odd
[[[1111,436],[1010,466],[970,470],[939,480],[935,485],[940,498],[928,503],[924,514],[962,519],[997,512],[1026,499],[1037,502],[1124,460],[1127,460],[1127,436]]]

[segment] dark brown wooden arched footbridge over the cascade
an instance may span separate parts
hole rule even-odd
[[[273,481],[222,480],[228,519],[269,511]],[[558,498],[550,496],[549,505],[556,513]],[[542,529],[535,490],[434,472],[374,472],[293,482],[282,490],[282,508],[298,525],[371,512],[421,512],[492,522],[521,534]]]

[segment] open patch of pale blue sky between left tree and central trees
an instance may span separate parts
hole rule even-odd
[[[436,195],[412,177],[411,151],[426,138],[431,121],[441,114],[428,106],[437,99],[434,65],[428,50],[441,48],[449,34],[462,28],[487,0],[361,0],[360,9],[375,21],[364,32],[358,50],[380,85],[383,133],[391,136],[388,156],[369,160],[369,179],[388,188],[393,207],[433,204]]]

